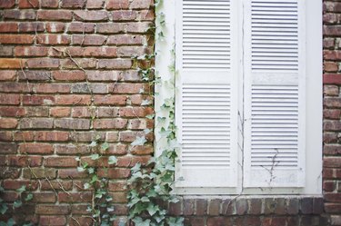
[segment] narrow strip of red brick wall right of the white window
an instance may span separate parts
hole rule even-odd
[[[323,190],[332,225],[341,225],[341,2],[324,3]]]

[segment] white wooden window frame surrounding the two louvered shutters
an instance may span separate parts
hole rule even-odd
[[[170,88],[169,81],[174,76],[170,73],[168,66],[174,59],[172,50],[176,42],[176,2],[177,0],[164,1],[161,11],[165,15],[165,26],[163,40],[156,39],[155,50],[155,71],[161,77],[161,84],[155,87],[155,117],[166,116],[160,110],[165,98],[174,97],[176,90]],[[243,3],[238,1],[239,9],[242,11]],[[179,188],[175,187],[178,194],[301,194],[301,195],[321,195],[322,194],[322,119],[323,119],[323,92],[322,92],[322,2],[318,0],[306,0],[306,184],[302,188],[242,188],[243,172],[238,166],[238,180],[236,188]],[[243,12],[238,12],[243,15]],[[241,23],[240,20],[239,23]],[[238,25],[238,27],[242,27]],[[316,29],[316,27],[318,29]],[[156,32],[157,33],[157,32]],[[242,28],[239,36],[243,34]],[[320,46],[319,48],[309,48],[309,46]],[[314,56],[314,57],[312,57]],[[236,56],[240,61],[239,72],[242,73],[242,54]],[[240,76],[238,87],[242,87],[243,76]],[[239,89],[239,96],[243,95],[243,90]],[[242,102],[239,109],[243,111]],[[155,154],[162,152],[166,142],[159,135],[159,127],[155,127]],[[239,134],[239,143],[243,143]],[[312,154],[314,153],[314,154]],[[243,162],[241,154],[238,154],[239,162]]]

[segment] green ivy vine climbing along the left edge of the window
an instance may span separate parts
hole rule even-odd
[[[165,27],[165,15],[162,13],[162,0],[155,1],[155,40],[163,41]],[[153,66],[155,54],[148,54],[139,57],[150,64],[147,69],[138,71],[142,74],[142,78],[149,82],[150,85],[163,85],[160,76],[154,76],[155,67]],[[175,51],[172,51],[174,61],[169,66],[170,73],[173,78],[165,81],[171,84],[172,90],[175,91]],[[157,94],[157,93],[156,93]],[[166,205],[164,203],[176,203],[179,201],[176,195],[172,194],[175,182],[175,162],[177,158],[176,149],[179,147],[176,141],[176,123],[175,123],[175,99],[166,98],[163,100],[161,109],[164,117],[148,115],[149,118],[155,118],[155,123],[160,126],[159,134],[165,139],[167,145],[159,156],[153,157],[145,166],[136,163],[131,169],[131,177],[128,180],[130,190],[128,192],[128,208],[129,219],[138,226],[180,226],[184,224],[181,217],[171,217],[167,215]],[[149,131],[145,132],[150,133]],[[132,145],[143,145],[146,142],[145,137],[136,137]]]

